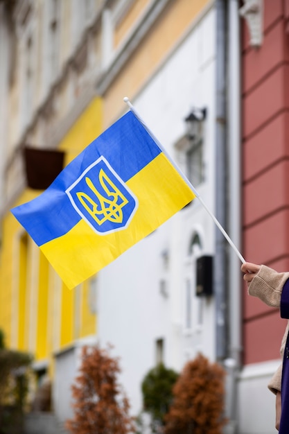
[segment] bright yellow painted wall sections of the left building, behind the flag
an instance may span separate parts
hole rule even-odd
[[[100,134],[101,118],[102,103],[96,97],[59,143],[66,164]],[[39,194],[26,188],[15,205]],[[1,288],[0,327],[6,345],[32,353],[35,361],[48,360],[53,351],[97,333],[89,281],[68,290],[9,212],[3,217]]]

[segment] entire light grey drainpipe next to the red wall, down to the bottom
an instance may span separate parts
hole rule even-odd
[[[228,144],[229,144],[229,234],[240,250],[241,172],[240,172],[240,19],[238,0],[228,2]],[[229,251],[229,358],[227,365],[227,417],[229,433],[238,432],[238,373],[241,364],[241,279],[240,259]]]

